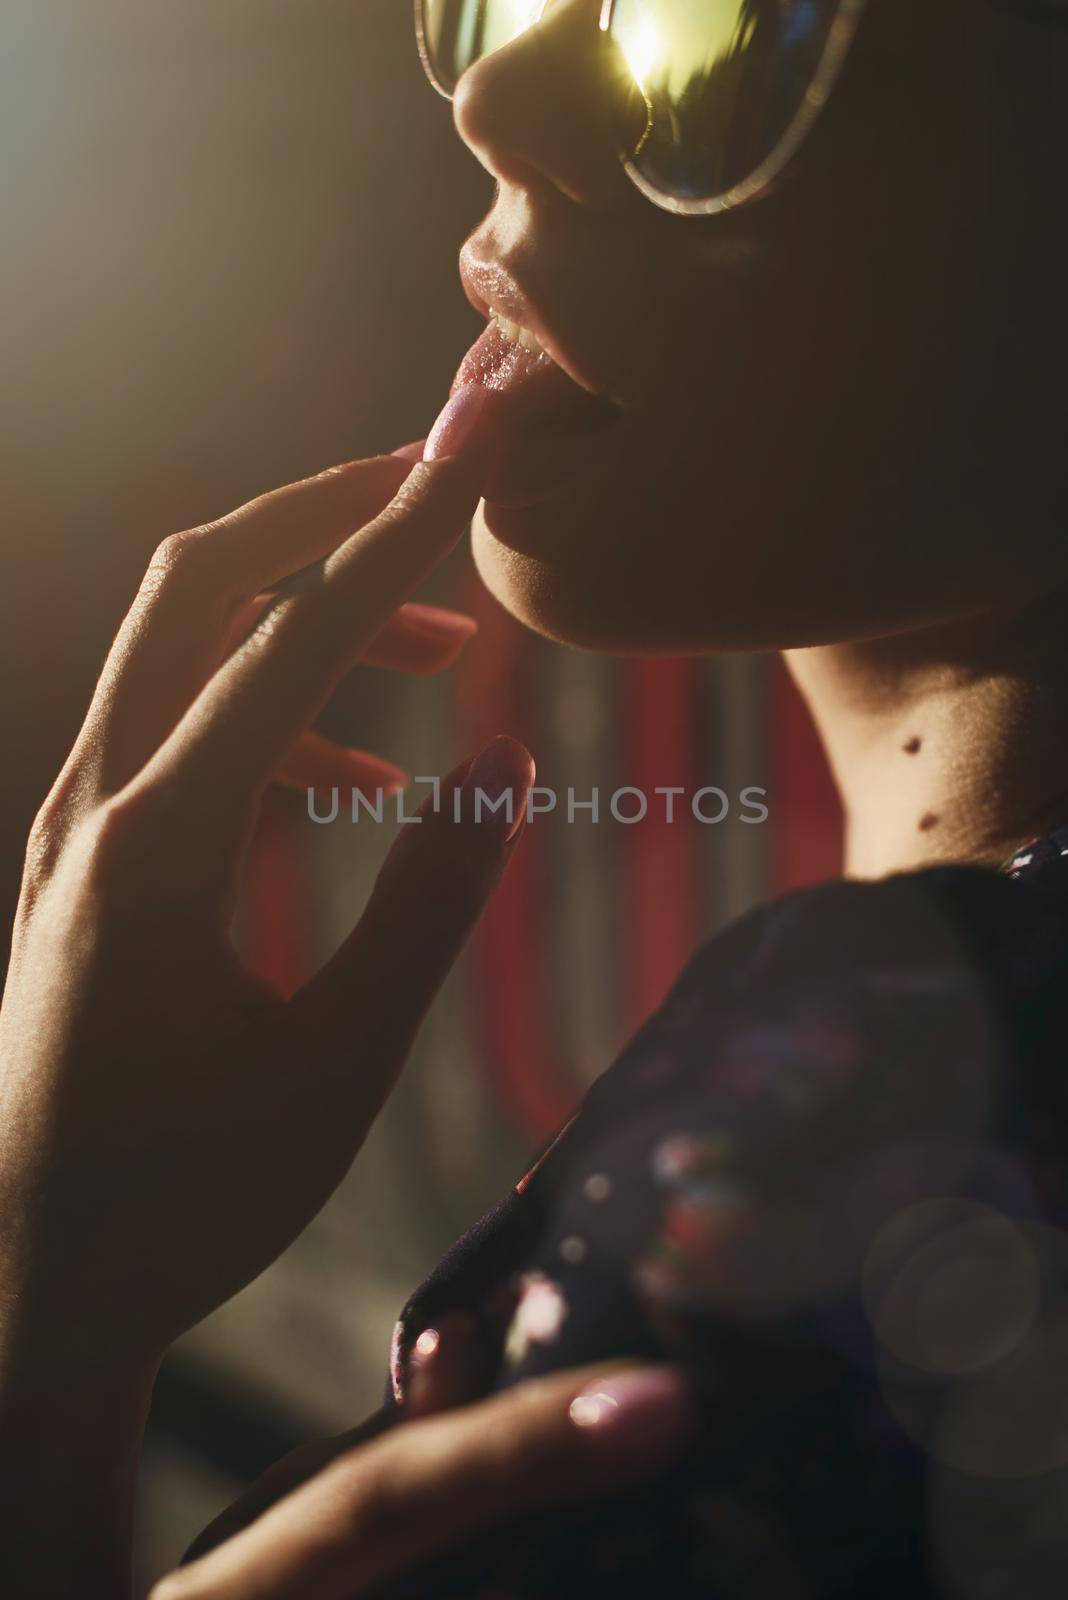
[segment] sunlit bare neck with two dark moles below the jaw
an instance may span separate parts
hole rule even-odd
[[[999,866],[1068,822],[1060,605],[793,650],[787,664],[843,797],[847,875]]]

